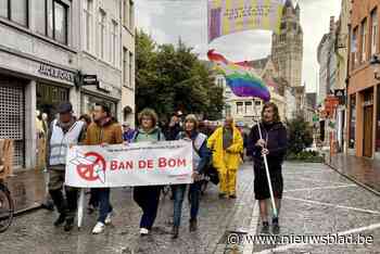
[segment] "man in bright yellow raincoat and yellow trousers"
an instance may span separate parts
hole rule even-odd
[[[214,167],[219,173],[219,198],[236,199],[237,172],[241,164],[240,153],[243,151],[243,139],[233,118],[226,117],[219,127],[208,138],[207,147],[213,150]]]

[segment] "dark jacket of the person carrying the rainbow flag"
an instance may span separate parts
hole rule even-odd
[[[288,147],[287,129],[282,123],[275,123],[267,130],[263,124],[259,124],[263,139],[267,140],[267,149],[269,154],[267,155],[269,168],[281,167]],[[264,158],[262,156],[262,148],[256,147],[256,142],[259,139],[259,132],[257,125],[253,126],[248,138],[246,155],[253,156],[255,165],[263,165]]]

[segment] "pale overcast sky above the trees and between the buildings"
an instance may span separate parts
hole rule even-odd
[[[207,43],[207,0],[136,0],[137,26],[159,43],[177,42],[180,37],[205,59],[216,49],[231,61],[255,60],[270,54],[271,33],[248,30]],[[317,88],[317,47],[329,30],[331,15],[338,18],[341,0],[293,0],[300,3],[304,31],[303,81],[307,91]]]

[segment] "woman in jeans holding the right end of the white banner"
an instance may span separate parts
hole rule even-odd
[[[193,148],[193,180],[194,182],[189,187],[190,195],[190,231],[198,229],[198,211],[200,205],[200,176],[211,157],[211,152],[207,148],[207,136],[198,131],[199,122],[195,115],[188,115],[185,118],[185,131],[177,136],[177,140],[183,139],[192,142]],[[174,226],[173,239],[178,238],[178,230],[180,225],[182,202],[187,185],[174,186]]]

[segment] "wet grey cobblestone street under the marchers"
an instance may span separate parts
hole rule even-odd
[[[207,189],[197,232],[189,232],[185,202],[177,240],[169,234],[173,202],[167,196],[161,201],[152,234],[140,238],[140,209],[131,190],[124,188],[112,192],[116,214],[103,234],[90,233],[96,215],[86,215],[81,230],[67,233],[52,226],[55,213],[39,209],[17,217],[0,234],[0,253],[380,253],[380,198],[322,164],[286,164],[279,236],[362,233],[371,237],[372,244],[231,244],[231,232],[254,236],[261,229],[252,165],[242,167],[238,181],[237,200],[219,200],[214,186]]]

